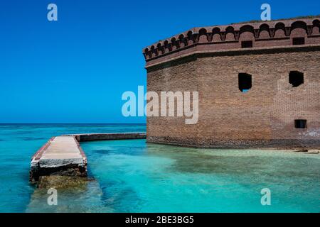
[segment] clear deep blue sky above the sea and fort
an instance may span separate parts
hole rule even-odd
[[[58,21],[47,6],[58,6]],[[142,48],[195,26],[316,15],[320,1],[0,2],[0,123],[144,123],[125,91],[146,85]]]

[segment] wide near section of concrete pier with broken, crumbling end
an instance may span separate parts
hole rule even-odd
[[[31,159],[30,181],[42,176],[87,176],[87,157],[74,136],[50,138]]]

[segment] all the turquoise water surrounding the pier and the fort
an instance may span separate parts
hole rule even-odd
[[[30,157],[50,136],[116,131],[145,131],[145,126],[1,126],[0,211],[320,211],[320,155],[279,150],[87,142],[82,148],[95,180],[77,190],[58,190],[58,206],[48,206],[48,194],[28,184]],[[260,203],[263,188],[271,191],[271,206]]]

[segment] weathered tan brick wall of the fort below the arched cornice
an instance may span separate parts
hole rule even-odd
[[[289,41],[306,35],[301,28],[290,34]],[[320,40],[305,37],[306,45],[299,47],[269,43],[223,52],[201,45],[186,57],[177,52],[149,61],[148,91],[198,91],[199,120],[186,125],[184,118],[148,117],[147,140],[213,148],[320,148]],[[303,72],[304,84],[292,87],[290,71]],[[247,93],[238,88],[241,72],[252,75]],[[294,128],[299,118],[307,120],[306,129]]]

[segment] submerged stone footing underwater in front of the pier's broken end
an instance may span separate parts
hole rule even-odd
[[[31,195],[26,212],[28,213],[83,213],[83,212],[114,212],[106,206],[102,189],[95,179],[83,177],[41,177],[40,188]],[[53,196],[51,188],[56,189],[56,205],[50,204]]]

